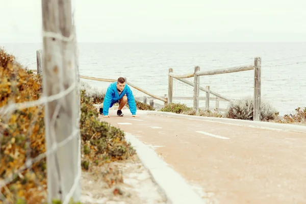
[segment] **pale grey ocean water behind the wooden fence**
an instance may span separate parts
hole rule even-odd
[[[2,43],[7,51],[30,69],[36,69],[36,50],[41,43]],[[262,99],[281,114],[306,106],[306,42],[301,43],[79,43],[80,74],[128,81],[152,94],[168,93],[168,69],[185,74],[253,64],[262,58]],[[253,95],[253,71],[202,76],[200,86],[230,98]],[[193,78],[188,79],[193,81]],[[105,89],[110,83],[83,80]],[[174,79],[173,96],[193,96],[193,88]],[[136,96],[145,94],[132,89]],[[205,92],[200,92],[205,96]],[[214,97],[211,95],[211,97]],[[163,104],[162,101],[155,100]],[[191,100],[174,100],[192,106]],[[200,101],[205,107],[205,101]],[[214,107],[214,101],[211,101]],[[225,108],[222,102],[220,108]]]

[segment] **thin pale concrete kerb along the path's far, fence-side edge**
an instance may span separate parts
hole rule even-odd
[[[204,120],[204,121],[219,122],[219,123],[226,123],[226,124],[232,124],[232,125],[260,127],[260,128],[266,128],[266,129],[306,133],[306,126],[295,125],[295,124],[284,124],[284,123],[252,121],[252,120],[239,120],[239,119],[232,119],[232,118],[194,116],[194,115],[184,115],[184,114],[162,112],[162,111],[146,111],[146,114],[147,115],[163,115],[163,116],[170,116],[170,117],[177,117],[177,118],[186,118],[186,119],[191,119],[191,120],[192,119]]]

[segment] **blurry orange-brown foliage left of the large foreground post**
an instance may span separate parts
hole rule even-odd
[[[41,94],[41,79],[14,60],[0,49],[0,110],[13,103],[37,100]],[[42,105],[8,113],[0,111],[0,183],[13,177],[1,193],[11,203],[18,198],[40,203],[45,197],[45,159],[18,172],[27,159],[45,152],[43,117]]]

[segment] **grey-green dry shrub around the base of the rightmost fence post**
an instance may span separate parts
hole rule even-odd
[[[261,121],[273,120],[278,115],[277,110],[267,101],[261,101]],[[253,120],[253,97],[247,96],[241,100],[232,100],[228,105],[225,117]]]

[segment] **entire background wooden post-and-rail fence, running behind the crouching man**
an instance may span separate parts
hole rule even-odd
[[[41,73],[41,51],[37,50],[37,72]],[[168,96],[165,94],[164,96],[157,96],[155,94],[149,93],[148,91],[145,91],[141,89],[140,87],[132,84],[129,81],[126,81],[126,84],[141,91],[142,93],[149,95],[150,97],[143,96],[143,97],[135,97],[137,100],[143,99],[143,102],[147,104],[147,99],[149,99],[149,104],[151,107],[154,107],[154,98],[161,100],[164,102],[164,106],[167,106],[169,103],[172,103],[173,99],[176,100],[193,100],[193,109],[196,111],[196,114],[198,114],[199,110],[199,100],[205,100],[206,101],[206,110],[210,110],[210,101],[216,101],[216,110],[224,111],[225,109],[219,108],[219,102],[220,101],[232,101],[231,98],[228,98],[224,95],[221,95],[219,93],[216,93],[212,90],[210,90],[210,86],[206,86],[206,88],[203,88],[200,86],[200,76],[204,75],[214,75],[214,74],[223,74],[223,73],[233,73],[233,72],[240,72],[240,71],[248,71],[248,70],[254,70],[254,109],[253,109],[253,120],[260,120],[261,115],[261,58],[254,58],[254,63],[252,65],[247,66],[238,66],[238,67],[231,67],[226,69],[216,69],[216,70],[209,70],[209,71],[200,71],[200,67],[196,66],[194,67],[194,72],[187,73],[187,74],[175,74],[173,73],[173,69],[169,68],[168,72]],[[32,70],[36,71],[36,70]],[[194,78],[193,83],[186,80],[187,78]],[[94,81],[100,81],[100,82],[115,82],[117,80],[114,79],[100,79],[100,78],[94,78],[94,77],[86,77],[80,75],[80,78],[87,79],[87,80],[94,80]],[[179,80],[185,84],[188,84],[193,89],[193,97],[173,97],[173,79]],[[206,97],[199,97],[199,91],[205,91]],[[210,94],[215,95],[216,97],[210,97]],[[162,105],[156,104],[157,107],[162,108]]]

